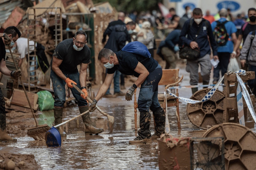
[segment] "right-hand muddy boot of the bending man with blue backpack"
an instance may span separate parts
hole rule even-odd
[[[156,132],[152,135],[152,140],[160,138],[160,135],[164,133],[165,126],[165,113],[162,107],[158,107],[156,111],[153,112],[156,127]]]

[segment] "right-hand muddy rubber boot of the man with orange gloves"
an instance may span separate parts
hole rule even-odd
[[[86,111],[88,111],[89,107],[88,106],[84,106],[84,107],[79,107],[79,112],[82,114]],[[103,129],[99,129],[99,128],[95,128],[92,124],[91,124],[91,117],[90,117],[90,113],[86,113],[82,116],[83,118],[83,122],[85,125],[85,134],[99,134],[101,132],[103,132]]]

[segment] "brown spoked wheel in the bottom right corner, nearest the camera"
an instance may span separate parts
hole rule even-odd
[[[207,130],[203,137],[224,138],[225,169],[255,169],[256,134],[250,129],[237,123],[223,123]]]

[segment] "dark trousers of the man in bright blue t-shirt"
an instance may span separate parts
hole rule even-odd
[[[220,62],[218,66],[213,70],[213,81],[219,81],[220,70],[221,70],[221,77],[227,72],[230,53],[218,53],[218,57]]]

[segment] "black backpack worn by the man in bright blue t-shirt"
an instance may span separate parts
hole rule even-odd
[[[224,46],[227,44],[228,38],[229,38],[229,35],[225,28],[225,23],[227,23],[228,21],[224,21],[224,22],[216,21],[216,22],[217,22],[217,25],[213,30],[213,36],[218,46]]]

